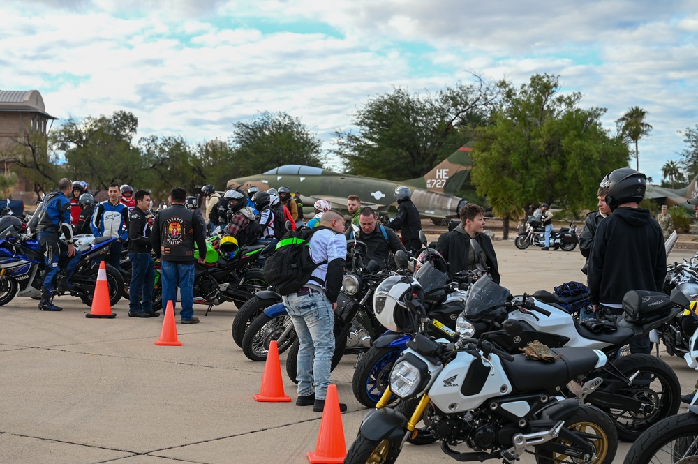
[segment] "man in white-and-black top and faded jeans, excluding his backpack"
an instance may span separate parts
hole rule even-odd
[[[342,285],[346,258],[344,218],[327,211],[309,241],[315,269],[311,278],[296,292],[283,297],[288,315],[298,335],[298,398],[296,405],[313,405],[322,412],[329,386],[334,352],[334,310]],[[341,411],[346,405],[339,405]]]

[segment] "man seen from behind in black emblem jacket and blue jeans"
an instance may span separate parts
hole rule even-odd
[[[181,294],[181,323],[197,324],[194,315],[194,243],[199,250],[200,264],[206,261],[205,226],[198,216],[184,207],[186,190],[170,190],[172,206],[158,214],[153,225],[151,245],[162,265],[163,308],[177,301],[177,286]]]

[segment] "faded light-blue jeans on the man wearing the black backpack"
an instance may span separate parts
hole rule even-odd
[[[324,400],[329,386],[329,371],[334,352],[334,314],[325,294],[313,292],[283,297],[299,342],[297,380],[299,396],[315,392],[315,400]]]

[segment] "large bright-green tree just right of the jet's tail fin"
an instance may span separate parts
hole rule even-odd
[[[604,174],[628,163],[628,147],[601,125],[606,110],[577,107],[581,93],[560,94],[558,77],[547,74],[501,87],[502,104],[478,128],[471,154],[477,193],[505,220],[541,202],[592,207]]]

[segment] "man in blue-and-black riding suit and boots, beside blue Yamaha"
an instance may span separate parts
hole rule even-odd
[[[80,250],[77,250],[73,245],[73,227],[70,226],[70,199],[68,199],[68,195],[73,188],[73,182],[70,179],[61,179],[58,188],[58,192],[46,195],[43,202],[43,212],[36,227],[38,241],[44,252],[46,271],[43,287],[41,287],[41,301],[39,302],[39,309],[42,311],[60,311],[63,309],[52,302],[56,288],[54,278],[62,270],[59,288],[65,290],[81,257]],[[65,241],[59,239],[61,232],[66,236]]]

